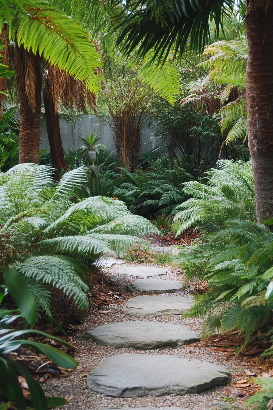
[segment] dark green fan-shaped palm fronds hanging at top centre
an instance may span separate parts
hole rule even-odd
[[[135,48],[139,56],[154,49],[154,58],[165,60],[170,51],[182,53],[188,42],[192,50],[201,51],[210,36],[210,22],[218,37],[223,19],[234,7],[233,0],[127,0],[113,30],[127,55]]]

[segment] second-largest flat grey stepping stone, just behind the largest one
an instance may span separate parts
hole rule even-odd
[[[108,323],[86,332],[87,339],[102,346],[153,349],[198,342],[199,334],[171,323],[126,321]]]

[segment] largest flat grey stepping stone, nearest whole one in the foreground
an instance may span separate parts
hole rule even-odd
[[[91,390],[114,397],[198,393],[229,382],[218,364],[174,355],[123,353],[103,359],[87,377]]]

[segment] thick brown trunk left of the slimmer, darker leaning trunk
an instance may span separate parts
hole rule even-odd
[[[24,51],[27,53],[27,51]],[[28,56],[31,52],[28,53]],[[22,54],[23,56],[23,54]],[[18,81],[23,82],[20,95],[20,133],[19,133],[19,163],[39,162],[39,147],[40,147],[40,128],[41,128],[41,94],[42,94],[42,78],[40,67],[40,56],[31,55],[31,59],[22,58],[24,66],[25,78],[20,78]],[[26,62],[27,61],[27,62]],[[27,64],[32,64],[29,68]],[[35,104],[29,100],[27,94],[29,87],[34,89]],[[27,89],[28,87],[28,89]]]

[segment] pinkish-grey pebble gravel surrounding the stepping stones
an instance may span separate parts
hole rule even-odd
[[[133,264],[113,265],[110,269],[104,269],[106,278],[111,279],[115,283],[117,289],[121,293],[126,293],[126,284],[132,282],[132,276],[119,275],[117,270],[120,267],[133,266]],[[160,276],[162,279],[182,280],[181,274],[175,271],[167,271],[167,274]],[[175,294],[167,294],[168,296],[186,296],[189,299],[193,297],[188,291],[177,292]],[[132,294],[132,297],[135,295]],[[110,312],[108,312],[110,311]],[[106,312],[106,313],[103,313]],[[233,381],[240,380],[245,377],[244,369],[254,370],[245,362],[232,358],[228,359],[225,353],[217,350],[217,348],[206,347],[202,343],[194,343],[175,348],[160,348],[153,350],[136,350],[128,348],[112,348],[108,346],[98,346],[94,342],[87,340],[84,337],[86,330],[93,329],[99,325],[113,323],[126,320],[142,320],[142,321],[161,321],[167,323],[182,324],[187,328],[200,332],[201,319],[183,319],[181,316],[161,316],[161,317],[133,317],[127,315],[122,310],[122,305],[104,306],[101,310],[93,312],[86,318],[84,323],[78,327],[73,337],[75,346],[75,358],[79,362],[78,367],[72,371],[71,376],[67,378],[54,378],[43,386],[45,392],[51,396],[62,396],[68,399],[69,403],[63,407],[65,410],[100,410],[104,408],[133,408],[144,407],[160,408],[167,406],[180,407],[183,410],[214,410],[218,409],[218,404],[232,403],[233,405],[241,405],[245,398],[234,397],[231,394],[232,386],[226,385],[223,387],[215,387],[203,393],[186,394],[178,396],[176,394],[164,396],[146,396],[133,398],[116,398],[109,397],[103,394],[92,392],[86,386],[86,376],[91,369],[97,367],[99,362],[106,357],[113,356],[119,353],[147,353],[147,354],[171,354],[183,358],[196,358],[206,362],[221,364],[225,366],[231,373]],[[221,408],[221,407],[220,407]]]

